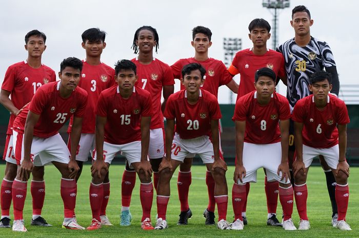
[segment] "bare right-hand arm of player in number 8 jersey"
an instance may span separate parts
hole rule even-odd
[[[288,147],[289,147],[289,119],[281,120],[279,123],[281,130],[281,147],[282,147],[282,160],[278,166],[277,174],[282,171],[282,178],[286,177],[286,181],[290,179],[289,166],[288,166]]]

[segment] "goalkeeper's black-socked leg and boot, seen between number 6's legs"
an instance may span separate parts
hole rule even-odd
[[[332,173],[331,168],[329,167],[323,156],[319,156],[319,161],[321,162],[322,168],[324,170],[325,178],[327,181],[329,198],[332,205],[332,225],[333,227],[336,227],[336,222],[338,219],[338,208],[336,206],[336,201],[335,201],[335,186],[336,186],[335,177]]]

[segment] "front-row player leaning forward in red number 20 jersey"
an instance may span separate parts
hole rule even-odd
[[[159,166],[157,214],[155,229],[166,229],[166,211],[173,172],[188,154],[199,155],[215,181],[214,198],[218,209],[219,229],[230,229],[226,221],[228,188],[227,165],[220,158],[218,120],[222,117],[217,98],[202,90],[206,70],[199,63],[190,63],[182,70],[181,90],[168,98],[164,116],[166,125],[166,157]],[[175,133],[174,125],[176,124]],[[174,137],[173,137],[174,134]],[[211,140],[209,139],[211,137]]]

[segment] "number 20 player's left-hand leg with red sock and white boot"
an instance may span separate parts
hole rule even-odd
[[[166,160],[166,158],[163,158]],[[171,160],[172,171],[165,168],[159,172],[159,180],[157,185],[157,221],[154,229],[162,230],[167,228],[166,212],[167,205],[170,199],[170,181],[176,168],[181,164],[181,161]]]

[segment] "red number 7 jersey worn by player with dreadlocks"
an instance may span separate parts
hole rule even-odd
[[[173,85],[174,79],[168,64],[153,58],[150,64],[142,64],[138,58],[132,59],[136,64],[138,80],[136,86],[150,92],[152,96],[151,129],[164,128],[161,111],[161,93],[164,85]]]

